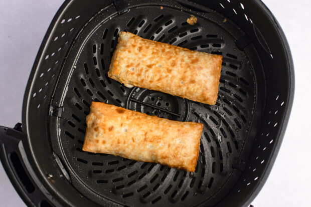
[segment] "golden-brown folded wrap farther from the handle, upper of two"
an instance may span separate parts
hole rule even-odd
[[[125,85],[213,105],[217,101],[221,64],[220,55],[120,32],[108,75]]]

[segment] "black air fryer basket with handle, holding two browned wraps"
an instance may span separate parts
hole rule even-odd
[[[217,104],[110,79],[120,31],[222,55]],[[293,89],[288,44],[259,0],[68,0],[31,71],[23,123],[0,128],[1,160],[28,205],[247,206],[274,163]],[[195,172],[82,151],[92,101],[203,123]]]

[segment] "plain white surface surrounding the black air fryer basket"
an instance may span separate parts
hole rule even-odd
[[[236,1],[236,0],[231,0]],[[21,122],[26,83],[43,37],[62,0],[0,0],[0,125]],[[270,176],[252,204],[311,206],[311,1],[263,0],[289,42],[295,97]],[[0,206],[25,206],[0,164]]]

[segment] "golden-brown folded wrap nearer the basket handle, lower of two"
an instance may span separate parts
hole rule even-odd
[[[203,124],[171,121],[93,102],[83,150],[194,171]]]

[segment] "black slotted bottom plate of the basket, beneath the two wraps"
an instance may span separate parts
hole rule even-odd
[[[234,169],[233,162],[241,156],[256,102],[250,54],[238,50],[235,45],[235,40],[244,34],[234,24],[227,23],[230,27],[225,28],[224,18],[215,13],[195,14],[198,21],[191,26],[186,22],[190,13],[175,7],[163,10],[160,6],[136,7],[123,15],[114,12],[106,8],[82,30],[60,77],[59,84],[64,87],[56,89],[56,92],[64,91],[64,111],[59,119],[59,137],[52,137],[51,141],[54,148],[61,149],[58,155],[73,185],[83,196],[99,204],[104,199],[133,206],[217,202],[238,179],[240,171]],[[108,78],[110,59],[120,31],[222,55],[217,104],[210,106],[157,91],[130,89]],[[195,172],[83,152],[85,119],[92,101],[171,120],[203,123]]]

